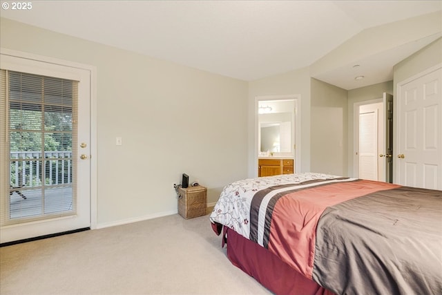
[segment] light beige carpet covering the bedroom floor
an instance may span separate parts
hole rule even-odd
[[[271,294],[233,266],[209,216],[0,248],[0,294]]]

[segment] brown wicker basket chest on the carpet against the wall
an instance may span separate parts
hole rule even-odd
[[[186,218],[206,215],[207,189],[205,187],[187,187],[178,189],[178,213]]]

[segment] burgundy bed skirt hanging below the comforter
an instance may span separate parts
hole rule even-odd
[[[226,232],[223,233],[223,238],[225,234]],[[267,249],[229,228],[227,228],[227,257],[233,265],[258,280],[274,294],[334,295],[313,280],[296,272]]]

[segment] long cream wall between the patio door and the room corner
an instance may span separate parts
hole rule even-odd
[[[177,211],[181,174],[247,176],[247,82],[1,19],[1,47],[97,67],[97,223]],[[115,137],[122,146],[115,146]]]

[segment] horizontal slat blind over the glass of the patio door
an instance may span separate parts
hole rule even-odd
[[[78,84],[1,70],[1,225],[75,214]]]

